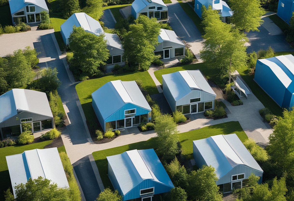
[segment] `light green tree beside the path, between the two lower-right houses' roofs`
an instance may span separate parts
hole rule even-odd
[[[158,153],[166,160],[172,160],[179,153],[178,129],[171,115],[163,114],[155,119],[156,140],[158,142]]]

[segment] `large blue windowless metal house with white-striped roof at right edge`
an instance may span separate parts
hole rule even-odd
[[[294,106],[294,56],[258,59],[254,81],[280,106]]]

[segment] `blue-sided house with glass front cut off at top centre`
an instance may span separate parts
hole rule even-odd
[[[160,22],[168,20],[167,10],[167,6],[162,0],[135,0],[131,6],[131,14],[135,19],[142,14],[149,18],[154,17]]]

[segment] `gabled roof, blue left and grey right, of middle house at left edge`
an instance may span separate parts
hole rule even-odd
[[[29,89],[11,89],[0,96],[0,123],[22,111],[53,118],[44,92]]]

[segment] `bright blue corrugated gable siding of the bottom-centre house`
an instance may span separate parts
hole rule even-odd
[[[161,183],[155,182],[153,180],[147,179],[141,182],[138,186],[133,188],[125,196],[123,196],[123,201],[131,200],[140,197],[140,190],[145,188],[154,187],[154,194],[160,194],[164,192],[169,192],[172,187],[163,185]]]

